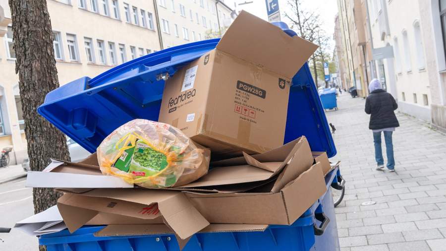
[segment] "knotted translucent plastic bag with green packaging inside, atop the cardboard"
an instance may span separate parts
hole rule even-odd
[[[141,187],[167,188],[205,175],[210,151],[172,125],[138,119],[115,129],[97,154],[103,174]]]

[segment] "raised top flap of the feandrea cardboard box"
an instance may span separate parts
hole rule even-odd
[[[268,50],[265,50],[268,48]],[[318,48],[298,36],[241,11],[224,33],[217,49],[292,78]]]

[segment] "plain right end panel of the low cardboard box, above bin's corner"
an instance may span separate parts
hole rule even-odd
[[[327,191],[320,163],[313,165],[281,190],[286,203],[289,222],[299,218]]]

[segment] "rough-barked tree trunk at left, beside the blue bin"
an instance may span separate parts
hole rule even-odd
[[[63,133],[37,114],[45,95],[59,86],[50,15],[46,0],[9,0],[9,6],[30,167],[41,171],[50,157],[70,159]],[[34,188],[33,196],[34,212],[39,213],[54,206],[60,194]]]

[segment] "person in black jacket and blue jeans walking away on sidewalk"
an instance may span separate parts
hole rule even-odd
[[[383,90],[380,80],[376,78],[370,82],[369,92],[370,95],[366,99],[365,112],[370,114],[369,129],[373,131],[376,170],[384,169],[384,158],[381,148],[381,132],[383,132],[386,142],[387,168],[390,172],[395,172],[392,133],[395,127],[399,126],[394,113],[398,105],[392,95]]]

